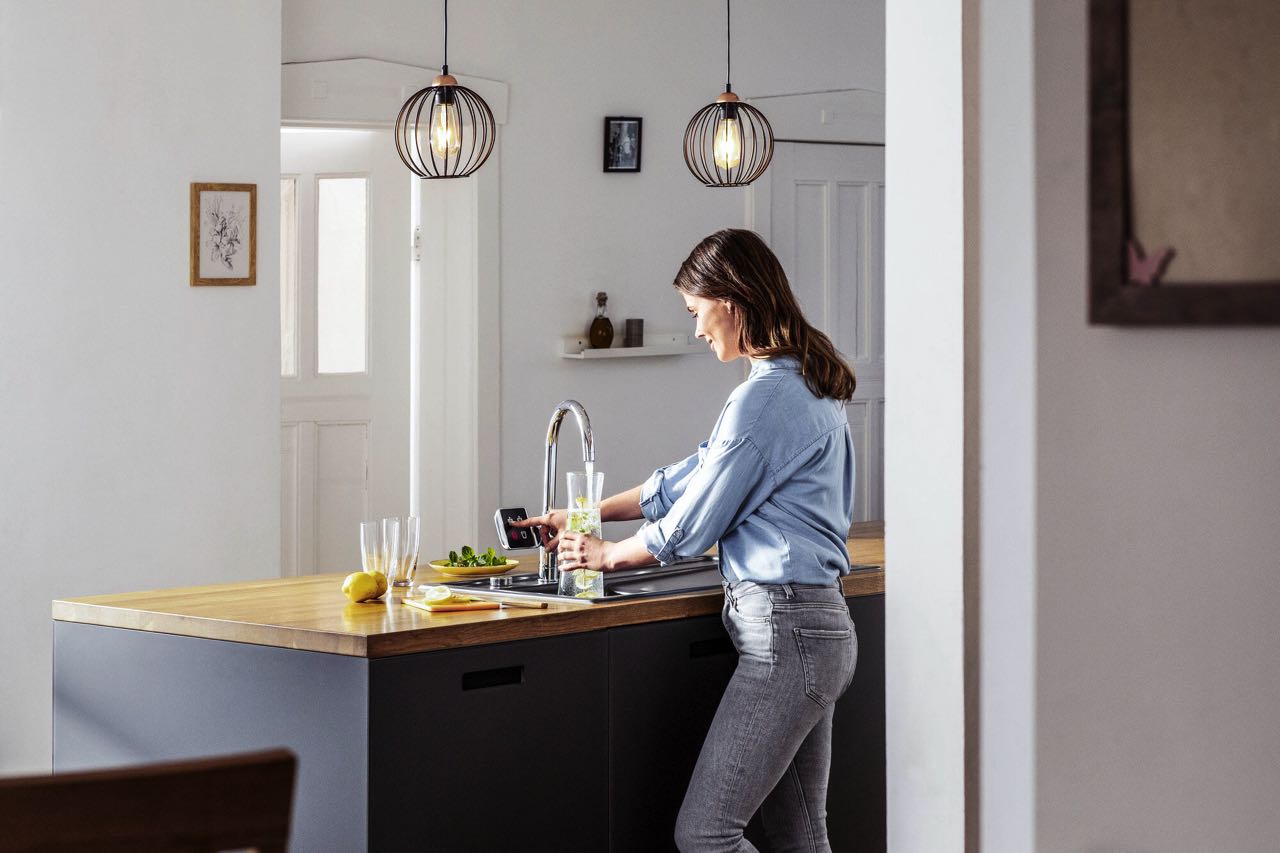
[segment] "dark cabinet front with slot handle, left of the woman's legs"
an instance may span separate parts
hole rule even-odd
[[[603,631],[378,658],[369,849],[605,850]]]

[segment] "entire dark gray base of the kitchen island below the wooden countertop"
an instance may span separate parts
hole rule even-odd
[[[879,852],[884,598],[849,603],[828,825]],[[374,660],[56,621],[54,768],[283,745],[293,849],[672,850],[736,662],[718,616]]]

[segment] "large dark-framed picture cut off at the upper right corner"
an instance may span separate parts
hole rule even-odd
[[[1280,6],[1233,9],[1089,1],[1094,325],[1280,324]]]

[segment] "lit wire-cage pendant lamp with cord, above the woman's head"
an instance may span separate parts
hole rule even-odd
[[[685,128],[685,165],[708,187],[745,187],[769,168],[773,128],[730,85],[730,0],[724,0],[724,92]]]

